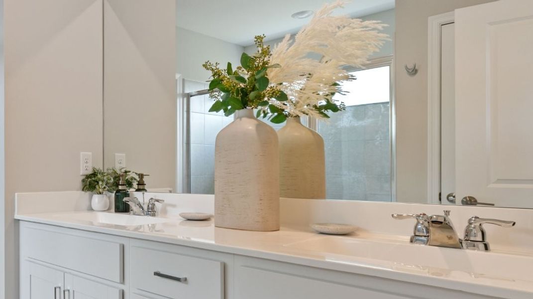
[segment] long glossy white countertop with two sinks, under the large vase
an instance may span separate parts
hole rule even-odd
[[[187,221],[179,216],[156,224],[106,224],[91,221],[94,218],[91,213],[101,212],[32,213],[15,218],[486,296],[533,298],[533,256],[523,253],[418,246],[410,244],[406,236],[364,231],[345,237],[324,235],[314,233],[306,225],[281,227],[276,232],[239,231],[215,227],[211,220]]]

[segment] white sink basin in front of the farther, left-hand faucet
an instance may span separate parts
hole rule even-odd
[[[115,214],[107,212],[90,212],[90,213],[74,213],[58,215],[60,218],[76,219],[79,221],[90,221],[95,224],[112,224],[123,226],[135,226],[144,224],[157,224],[165,222],[173,222],[172,219],[149,217],[149,216],[135,216],[129,214]]]

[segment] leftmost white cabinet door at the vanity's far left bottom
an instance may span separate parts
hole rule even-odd
[[[38,265],[26,263],[27,279],[21,279],[21,298],[61,299],[63,292],[63,272]],[[26,270],[25,269],[25,270]]]

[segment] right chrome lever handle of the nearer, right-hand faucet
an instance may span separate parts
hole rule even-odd
[[[483,224],[496,224],[502,227],[513,227],[516,222],[499,219],[470,217],[465,228],[465,238],[463,247],[466,249],[490,250],[487,242],[487,233],[483,229]]]

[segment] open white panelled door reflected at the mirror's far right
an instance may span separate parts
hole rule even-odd
[[[456,198],[533,207],[533,1],[455,11]]]

